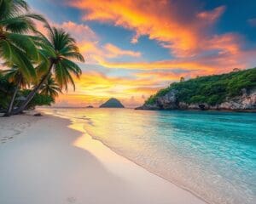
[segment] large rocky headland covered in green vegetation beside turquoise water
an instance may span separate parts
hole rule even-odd
[[[137,110],[256,111],[256,68],[173,82]]]

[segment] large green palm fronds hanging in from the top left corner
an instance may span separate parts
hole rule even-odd
[[[27,79],[36,77],[30,59],[38,60],[38,49],[25,33],[36,32],[33,20],[46,23],[41,15],[28,11],[23,0],[0,0],[0,59],[18,65]]]

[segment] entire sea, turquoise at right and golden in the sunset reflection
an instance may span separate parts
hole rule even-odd
[[[209,203],[256,203],[256,114],[57,109],[117,153]]]

